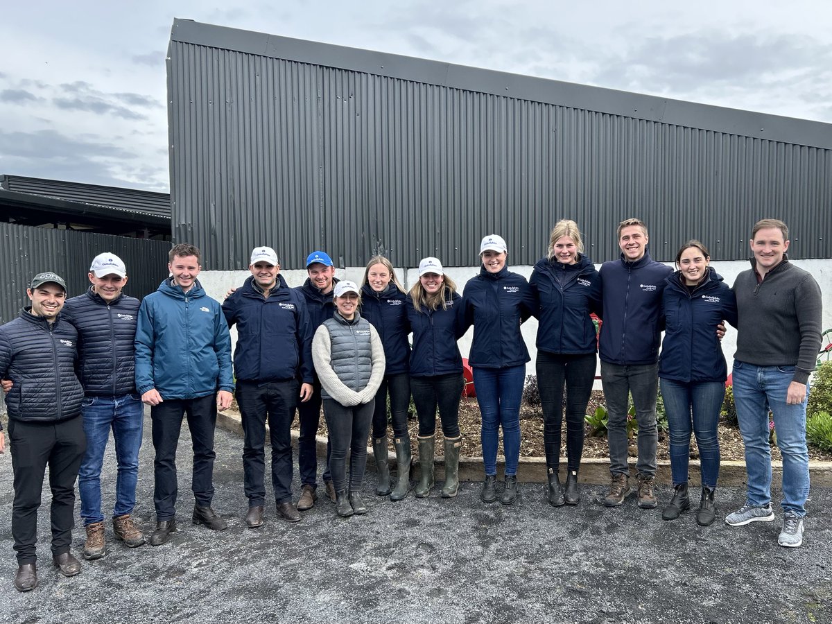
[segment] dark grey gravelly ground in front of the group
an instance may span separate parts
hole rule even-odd
[[[191,525],[186,426],[179,450],[179,532],[129,549],[107,522],[108,554],[82,561],[77,577],[52,567],[45,488],[40,585],[23,594],[12,586],[11,461],[0,455],[0,622],[832,622],[830,488],[812,489],[805,542],[793,549],[777,545],[779,508],[776,522],[703,528],[693,513],[664,522],[661,505],[639,509],[632,497],[604,508],[603,486],[582,486],[577,507],[552,508],[539,483],[521,484],[510,507],[481,503],[478,483],[454,499],[439,497],[440,484],[429,498],[391,503],[374,495],[370,471],[365,516],[337,518],[319,498],[289,524],[270,502],[265,526],[249,529],[242,439],[218,430],[214,508],[229,527],[212,532]],[[146,418],[135,516],[148,531],[152,460]],[[104,475],[111,505],[112,443]],[[657,493],[666,502],[671,488]],[[720,518],[744,500],[742,488],[719,489]],[[79,558],[83,541],[78,526]]]

